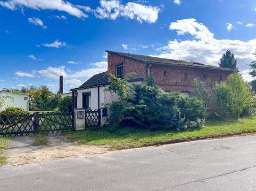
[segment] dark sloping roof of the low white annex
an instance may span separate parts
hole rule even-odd
[[[99,74],[95,74],[92,76],[89,80],[87,80],[85,83],[83,83],[80,88],[89,88],[89,87],[94,87],[98,85],[104,85],[107,84],[107,77],[105,77],[106,72],[102,72]]]

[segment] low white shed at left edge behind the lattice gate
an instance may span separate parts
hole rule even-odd
[[[0,111],[4,110],[7,107],[20,107],[26,111],[29,111],[30,95],[4,91],[0,92],[0,97],[6,96],[8,96],[9,98],[4,100],[5,105],[0,108]]]

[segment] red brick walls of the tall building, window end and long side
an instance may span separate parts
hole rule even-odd
[[[133,77],[143,77],[144,80],[146,80],[148,75],[147,64],[108,53],[108,72],[116,75],[116,65],[118,64],[124,64],[124,75],[135,72],[136,74]],[[164,76],[164,71],[166,71],[166,76]],[[184,76],[185,73],[187,73],[187,77]],[[152,65],[150,74],[155,77],[156,84],[165,91],[191,92],[191,85],[194,79],[204,80],[210,88],[215,83],[220,82],[220,76],[223,76],[223,81],[225,81],[231,72],[213,69]],[[206,74],[206,79],[204,79],[204,74]]]

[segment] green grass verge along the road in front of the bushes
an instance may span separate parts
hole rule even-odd
[[[112,149],[126,149],[250,132],[256,132],[256,117],[229,122],[210,121],[204,128],[193,131],[150,131],[124,128],[114,133],[104,129],[75,131],[67,133],[66,136],[86,145],[109,145]]]

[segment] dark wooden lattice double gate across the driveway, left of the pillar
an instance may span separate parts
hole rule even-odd
[[[0,115],[0,135],[60,134],[74,130],[73,113]]]

